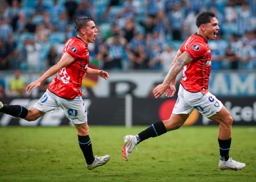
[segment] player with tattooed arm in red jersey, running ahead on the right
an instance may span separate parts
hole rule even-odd
[[[172,97],[176,91],[174,86],[176,76],[183,68],[179,97],[170,119],[155,122],[137,135],[125,136],[125,145],[122,150],[124,160],[128,161],[130,153],[140,142],[167,131],[179,129],[189,114],[197,109],[205,117],[219,124],[219,168],[238,170],[245,167],[244,163],[229,158],[233,119],[221,101],[208,91],[211,71],[211,51],[208,47],[208,40],[216,38],[219,30],[218,20],[214,13],[202,12],[197,16],[196,25],[198,32],[185,40],[173,59],[173,65],[165,80],[153,90],[156,98],[163,93],[167,97]]]

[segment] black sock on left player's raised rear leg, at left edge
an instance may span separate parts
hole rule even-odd
[[[9,114],[14,117],[25,118],[28,115],[28,110],[20,105],[3,105],[0,112]]]

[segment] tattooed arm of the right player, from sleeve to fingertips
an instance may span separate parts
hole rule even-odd
[[[154,96],[156,98],[159,98],[163,93],[165,93],[165,91],[170,86],[170,84],[173,83],[173,81],[175,81],[175,78],[176,78],[177,74],[179,74],[181,72],[182,68],[191,61],[193,61],[193,59],[191,58],[191,56],[187,52],[182,53],[177,58],[174,65],[171,67],[171,69],[168,72],[168,74],[167,74],[165,80],[163,81],[163,83],[158,85],[153,90]]]

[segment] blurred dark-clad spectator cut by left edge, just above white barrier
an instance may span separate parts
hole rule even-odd
[[[4,39],[0,39],[0,70],[9,69],[9,50],[4,42]]]

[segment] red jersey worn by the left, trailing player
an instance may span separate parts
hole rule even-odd
[[[73,99],[82,96],[81,84],[89,63],[87,44],[79,37],[70,38],[62,51],[75,61],[58,71],[58,75],[48,85],[48,89],[59,97]]]

